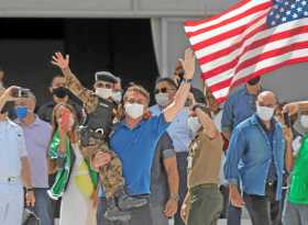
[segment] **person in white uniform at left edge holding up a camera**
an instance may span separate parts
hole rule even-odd
[[[1,225],[22,223],[23,184],[26,205],[34,206],[35,203],[23,132],[19,125],[8,119],[8,112],[4,108],[6,103],[18,98],[18,95],[13,94],[16,89],[19,88],[11,87],[0,97],[0,146],[2,146],[0,148]]]

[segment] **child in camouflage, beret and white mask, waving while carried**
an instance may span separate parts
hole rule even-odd
[[[69,56],[65,58],[61,53],[53,56],[52,64],[62,69],[66,79],[66,87],[84,103],[88,114],[86,122],[80,127],[80,145],[85,156],[92,157],[98,151],[108,153],[111,161],[100,168],[100,178],[108,209],[105,216],[110,221],[127,221],[130,214],[127,211],[146,204],[143,199],[134,199],[124,190],[122,164],[108,146],[108,137],[117,113],[117,104],[112,100],[117,78],[107,71],[96,74],[95,92],[86,89],[69,69]],[[117,198],[118,205],[114,198]]]

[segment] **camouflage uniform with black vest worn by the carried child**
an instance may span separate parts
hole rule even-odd
[[[124,187],[122,164],[108,146],[108,136],[117,112],[117,104],[97,97],[92,91],[82,87],[69,69],[63,70],[67,88],[78,97],[88,113],[85,130],[80,130],[80,149],[85,157],[91,158],[98,151],[111,155],[111,161],[100,169],[101,183],[106,196],[112,196],[120,188]],[[98,120],[99,119],[99,120]],[[86,137],[86,144],[82,142]]]

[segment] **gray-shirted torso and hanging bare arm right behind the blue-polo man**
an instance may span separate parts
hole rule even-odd
[[[178,207],[178,170],[173,140],[165,133],[152,165],[150,210],[153,225],[168,225]]]

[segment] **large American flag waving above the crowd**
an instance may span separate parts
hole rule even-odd
[[[216,16],[186,21],[185,32],[206,86],[223,102],[233,86],[308,61],[308,0],[242,0]]]

